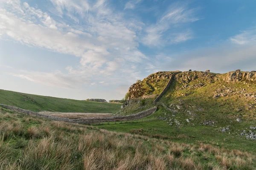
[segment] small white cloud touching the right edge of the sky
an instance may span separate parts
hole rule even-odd
[[[230,41],[239,45],[245,45],[256,42],[256,28],[251,28],[246,31],[242,31],[241,34],[237,34],[230,38]]]

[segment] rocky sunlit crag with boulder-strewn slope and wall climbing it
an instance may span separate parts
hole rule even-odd
[[[157,89],[146,93],[146,83]],[[128,94],[120,115],[158,105],[154,116],[170,126],[211,126],[221,133],[256,139],[256,72],[157,72],[132,85]],[[247,130],[248,125],[253,128]]]

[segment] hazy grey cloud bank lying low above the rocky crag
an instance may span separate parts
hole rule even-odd
[[[188,71],[211,70],[212,72],[224,73],[241,69],[242,71],[255,70],[256,45],[232,45],[228,42],[212,47],[197,49],[176,54],[175,59],[157,67],[161,70],[168,69]]]

